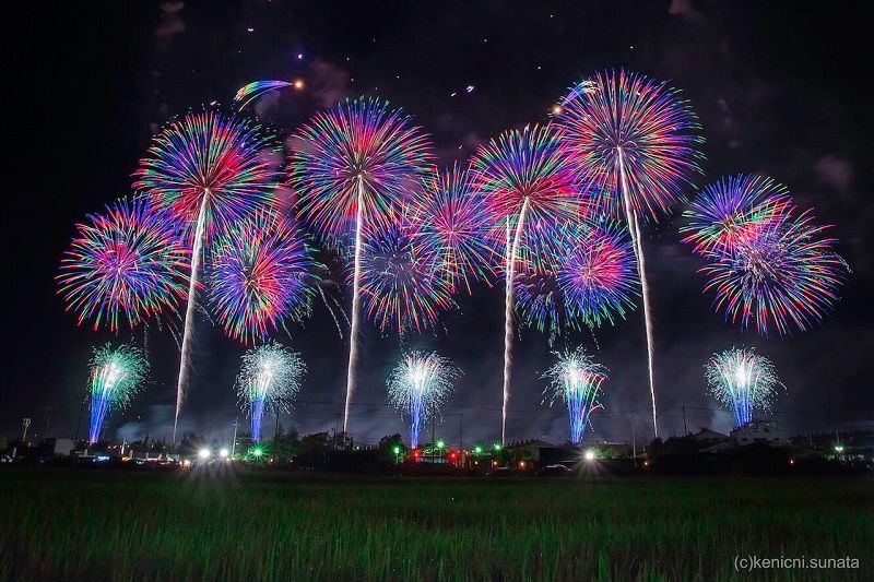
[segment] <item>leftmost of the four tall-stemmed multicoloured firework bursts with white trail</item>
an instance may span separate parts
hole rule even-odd
[[[216,111],[189,114],[158,133],[134,174],[155,207],[190,230],[191,270],[182,333],[173,441],[188,381],[198,277],[214,236],[251,212],[267,209],[280,181],[279,146],[260,126]]]

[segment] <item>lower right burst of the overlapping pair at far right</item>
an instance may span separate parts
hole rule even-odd
[[[794,209],[791,209],[794,210]],[[705,290],[716,292],[717,310],[743,328],[755,325],[767,335],[791,328],[804,331],[819,322],[838,300],[848,268],[835,252],[837,240],[823,237],[810,211],[792,217],[788,211],[740,238],[730,250],[708,253],[701,269]]]

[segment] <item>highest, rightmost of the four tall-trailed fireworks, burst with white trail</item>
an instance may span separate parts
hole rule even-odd
[[[624,216],[637,256],[647,333],[652,426],[658,436],[652,313],[639,216],[657,221],[684,200],[688,177],[700,173],[704,141],[688,102],[677,90],[619,71],[582,81],[556,109],[569,155],[614,216]]]

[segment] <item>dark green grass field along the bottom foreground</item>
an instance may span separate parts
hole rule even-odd
[[[734,556],[862,560],[870,478],[602,480],[0,472],[0,579],[735,578]]]

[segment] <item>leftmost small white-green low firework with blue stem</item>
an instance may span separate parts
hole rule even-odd
[[[103,421],[110,408],[128,405],[145,376],[146,363],[140,349],[106,344],[94,349],[91,360],[91,425],[88,442],[101,438]]]

